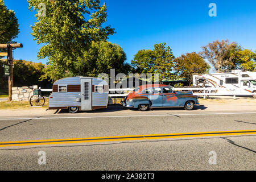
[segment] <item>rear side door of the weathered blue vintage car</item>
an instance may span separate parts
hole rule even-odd
[[[151,107],[162,107],[163,106],[162,87],[152,88],[149,98],[150,98],[150,101],[152,102]]]

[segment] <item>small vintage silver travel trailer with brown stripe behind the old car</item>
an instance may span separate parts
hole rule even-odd
[[[106,108],[109,100],[109,86],[105,80],[92,77],[68,77],[53,84],[49,96],[49,109],[68,109],[70,113],[79,110]]]

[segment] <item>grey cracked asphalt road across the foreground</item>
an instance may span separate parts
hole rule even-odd
[[[80,113],[0,118],[1,142],[256,130],[256,111]],[[38,164],[39,151],[46,164]],[[216,164],[209,164],[212,154]],[[256,170],[256,134],[0,147],[0,170]]]

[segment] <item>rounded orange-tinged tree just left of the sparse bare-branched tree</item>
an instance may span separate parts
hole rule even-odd
[[[175,60],[174,71],[179,77],[187,78],[189,85],[191,85],[194,74],[208,73],[210,66],[207,64],[203,57],[198,55],[196,52],[186,53],[181,55]]]

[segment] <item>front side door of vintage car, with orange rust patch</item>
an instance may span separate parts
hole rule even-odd
[[[177,96],[170,87],[163,87],[163,107],[175,107]]]

